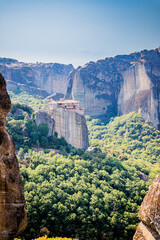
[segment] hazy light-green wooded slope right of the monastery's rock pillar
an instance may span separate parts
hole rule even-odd
[[[140,113],[111,119],[108,124],[87,117],[90,145],[116,156],[124,166],[142,171],[150,182],[160,172],[160,131],[145,121]]]

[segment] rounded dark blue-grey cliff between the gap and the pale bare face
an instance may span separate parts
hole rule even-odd
[[[114,66],[106,60],[90,62],[71,74],[66,99],[70,96],[78,100],[90,116],[105,115],[107,112],[117,113],[116,99],[120,91],[122,76],[115,76]],[[71,92],[69,94],[69,92]]]

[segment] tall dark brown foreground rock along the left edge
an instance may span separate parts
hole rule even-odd
[[[5,124],[11,102],[0,74],[0,239],[13,240],[27,225],[23,183],[11,137]]]

